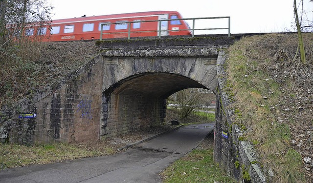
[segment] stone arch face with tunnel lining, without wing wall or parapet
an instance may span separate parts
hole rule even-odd
[[[145,54],[139,54],[140,57],[131,51],[124,52],[125,55],[114,51],[117,57],[112,57],[112,52],[102,54],[102,138],[161,124],[165,118],[166,98],[179,90],[216,90],[215,54],[188,57],[191,52],[181,49],[165,57],[164,52],[141,51]]]

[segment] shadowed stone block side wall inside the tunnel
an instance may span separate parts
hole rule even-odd
[[[163,122],[165,111],[160,110],[164,102],[135,95],[111,95],[105,130],[101,130],[102,139],[125,134],[135,129],[158,126]]]

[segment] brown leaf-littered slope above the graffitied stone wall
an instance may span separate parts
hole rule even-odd
[[[0,108],[72,77],[99,48],[94,41],[28,42],[11,51],[0,54]]]

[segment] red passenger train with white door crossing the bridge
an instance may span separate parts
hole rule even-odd
[[[42,37],[42,41],[74,41],[99,40],[101,25],[103,39],[147,36],[191,35],[188,24],[177,11],[151,11],[125,13],[92,17],[79,17],[62,20],[52,20],[48,26],[26,29],[25,36]],[[169,20],[159,21],[152,20]],[[132,22],[131,24],[129,22]],[[103,25],[104,24],[104,25]],[[130,27],[129,27],[130,26]],[[161,27],[161,31],[157,32]]]

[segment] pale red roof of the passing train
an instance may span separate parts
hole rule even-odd
[[[122,13],[122,14],[113,14],[113,15],[100,15],[92,17],[77,17],[69,19],[59,19],[52,20],[51,24],[64,23],[64,22],[73,22],[73,21],[88,21],[88,20],[103,20],[103,19],[117,19],[125,17],[143,17],[151,15],[160,15],[160,14],[179,14],[177,11],[148,11],[148,12],[137,12],[137,13]]]

